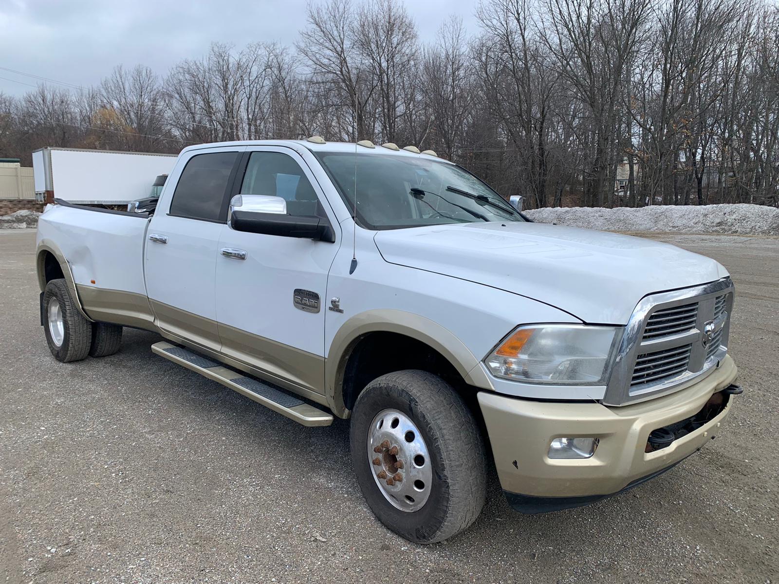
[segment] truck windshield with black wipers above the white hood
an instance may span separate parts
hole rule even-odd
[[[392,154],[315,153],[341,198],[368,229],[445,223],[523,221],[498,193],[464,169],[435,159]]]

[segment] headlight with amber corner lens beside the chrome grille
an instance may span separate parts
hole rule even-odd
[[[528,325],[485,359],[492,375],[531,383],[602,385],[617,339],[613,326]]]

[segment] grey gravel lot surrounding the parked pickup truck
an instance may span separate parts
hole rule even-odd
[[[153,355],[59,364],[34,232],[0,233],[0,582],[779,582],[779,239],[657,235],[734,275],[746,392],[685,463],[619,497],[518,515],[493,477],[467,532],[374,519],[348,427],[309,429]]]

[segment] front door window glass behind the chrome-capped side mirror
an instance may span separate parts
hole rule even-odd
[[[279,152],[253,152],[246,165],[241,195],[271,195],[287,201],[287,213],[324,216],[319,199],[303,169]]]

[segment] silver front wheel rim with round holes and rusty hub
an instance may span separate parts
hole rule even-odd
[[[401,511],[418,511],[432,489],[433,470],[419,428],[406,414],[382,410],[368,428],[368,464],[379,491]]]

